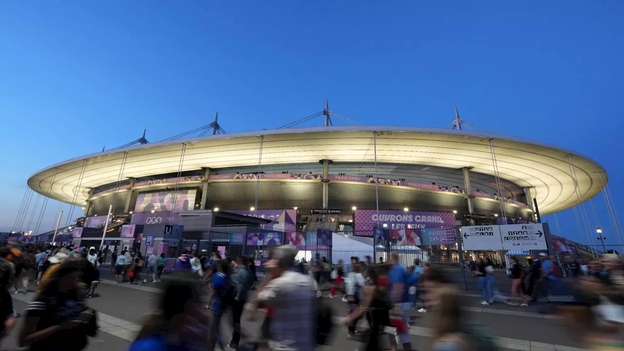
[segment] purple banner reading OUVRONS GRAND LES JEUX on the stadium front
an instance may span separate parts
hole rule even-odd
[[[387,229],[450,228],[455,227],[455,215],[452,212],[380,210],[378,217],[376,210],[356,210],[354,235],[373,236],[373,228],[383,224]]]

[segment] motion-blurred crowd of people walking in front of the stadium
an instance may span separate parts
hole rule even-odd
[[[156,300],[130,351],[143,350],[313,350],[342,332],[321,295],[326,262],[314,255],[310,264],[296,261],[295,248],[271,250],[264,264],[265,279],[256,282],[253,256],[223,258],[218,252],[198,255],[183,252]],[[119,282],[158,282],[163,255],[144,257],[122,250],[114,257]],[[351,257],[330,269],[334,284],[329,297],[342,295],[348,314],[342,320],[346,337],[362,350],[411,350],[409,311],[432,312],[431,349],[495,350],[494,339],[466,315],[461,292],[444,274],[416,260],[400,264],[398,254],[388,262]],[[477,262],[475,274],[484,295],[492,299],[493,267]],[[533,255],[524,267],[510,257],[512,295],[522,304],[547,297],[563,283],[560,269],[547,255]],[[0,248],[0,335],[17,325],[11,294],[27,291],[35,281],[36,297],[24,311],[19,344],[29,350],[84,350],[97,332],[97,312],[85,304],[99,281],[102,254],[94,247],[33,247],[9,242]],[[568,260],[563,266],[575,288],[575,298],[556,302],[554,312],[582,342],[590,346],[624,347],[624,266],[620,257],[607,254],[590,260],[587,269]],[[528,280],[528,287],[525,282]],[[26,282],[26,283],[24,283]],[[255,290],[255,291],[254,291]],[[336,305],[334,305],[335,307]],[[245,320],[258,320],[260,338],[241,328]],[[230,328],[225,328],[228,326]],[[231,335],[223,331],[231,330]],[[417,345],[422,349],[422,345]]]

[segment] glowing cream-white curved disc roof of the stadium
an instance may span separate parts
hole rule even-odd
[[[500,177],[522,187],[532,187],[532,196],[537,199],[542,214],[577,203],[567,155],[572,155],[583,201],[602,190],[601,174],[607,182],[607,173],[597,162],[541,142],[453,129],[348,126],[219,134],[115,149],[47,167],[33,174],[28,185],[52,199],[80,205],[89,197],[90,188],[117,182],[124,152],[127,159],[122,179],[178,172],[183,144],[187,147],[182,171],[253,166],[258,164],[260,136],[263,136],[262,164],[265,165],[320,159],[374,162],[374,132],[378,162],[454,169],[473,167],[474,172],[490,175],[494,175],[489,147],[493,139]],[[84,161],[87,166],[80,182]]]

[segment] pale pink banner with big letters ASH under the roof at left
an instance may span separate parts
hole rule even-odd
[[[137,196],[134,212],[192,210],[195,208],[196,194],[197,190],[195,189],[144,192]]]

